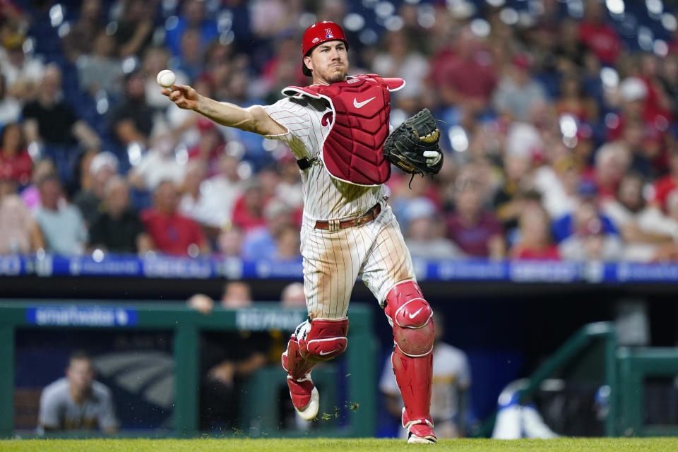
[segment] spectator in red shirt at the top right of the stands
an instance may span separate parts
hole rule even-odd
[[[622,52],[622,42],[619,40],[617,30],[605,23],[602,2],[586,2],[584,19],[579,25],[579,38],[606,66],[614,66],[619,53]]]

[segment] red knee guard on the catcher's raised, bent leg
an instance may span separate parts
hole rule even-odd
[[[313,319],[297,328],[299,354],[308,362],[332,359],[346,350],[348,319]]]

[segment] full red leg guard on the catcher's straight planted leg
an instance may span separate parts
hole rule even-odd
[[[415,425],[432,427],[431,381],[433,377],[433,311],[417,283],[408,281],[393,287],[386,296],[386,316],[393,325],[393,373],[405,404],[403,427],[415,432]],[[430,427],[429,427],[430,426]],[[430,433],[432,436],[433,432]],[[434,436],[435,437],[435,436]]]

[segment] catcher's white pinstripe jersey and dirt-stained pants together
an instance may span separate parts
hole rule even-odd
[[[263,107],[287,128],[282,135],[267,136],[290,145],[297,160],[316,159],[302,171],[304,224],[301,231],[304,261],[304,295],[311,319],[346,316],[355,280],[361,277],[376,299],[383,303],[391,288],[415,280],[412,258],[405,246],[396,216],[384,201],[386,189],[359,186],[331,177],[320,158],[332,121],[325,100],[286,97]],[[371,222],[340,230],[319,230],[316,220],[355,218],[381,202],[381,214]]]

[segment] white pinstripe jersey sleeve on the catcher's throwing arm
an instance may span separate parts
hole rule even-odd
[[[286,133],[264,135],[264,138],[285,141],[297,159],[309,157],[306,148],[313,127],[309,110],[302,103],[288,97],[278,100],[273,105],[264,105],[263,110],[273,121],[287,129]]]

